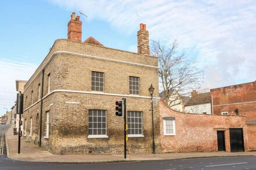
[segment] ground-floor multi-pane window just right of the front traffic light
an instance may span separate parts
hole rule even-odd
[[[143,137],[142,133],[142,112],[128,111],[128,136]]]

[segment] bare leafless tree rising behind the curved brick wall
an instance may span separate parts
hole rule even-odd
[[[177,39],[170,48],[160,41],[153,41],[151,55],[158,57],[159,90],[169,107],[180,104],[182,96],[188,96],[191,89],[198,89],[202,80],[202,70],[198,69],[195,60],[189,60],[186,53],[177,52]]]

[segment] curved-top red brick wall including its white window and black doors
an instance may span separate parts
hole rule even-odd
[[[163,102],[159,113],[163,152],[248,151],[244,116],[182,113]]]

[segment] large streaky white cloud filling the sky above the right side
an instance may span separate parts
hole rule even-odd
[[[82,10],[90,20],[107,21],[126,34],[137,31],[139,23],[146,23],[151,39],[170,44],[173,38],[179,38],[181,48],[197,51],[197,60],[205,70],[204,88],[256,79],[255,1],[51,2]]]

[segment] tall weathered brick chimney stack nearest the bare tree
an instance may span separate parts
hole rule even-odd
[[[138,53],[140,55],[150,55],[150,38],[146,30],[146,24],[140,24],[140,30],[137,32]]]

